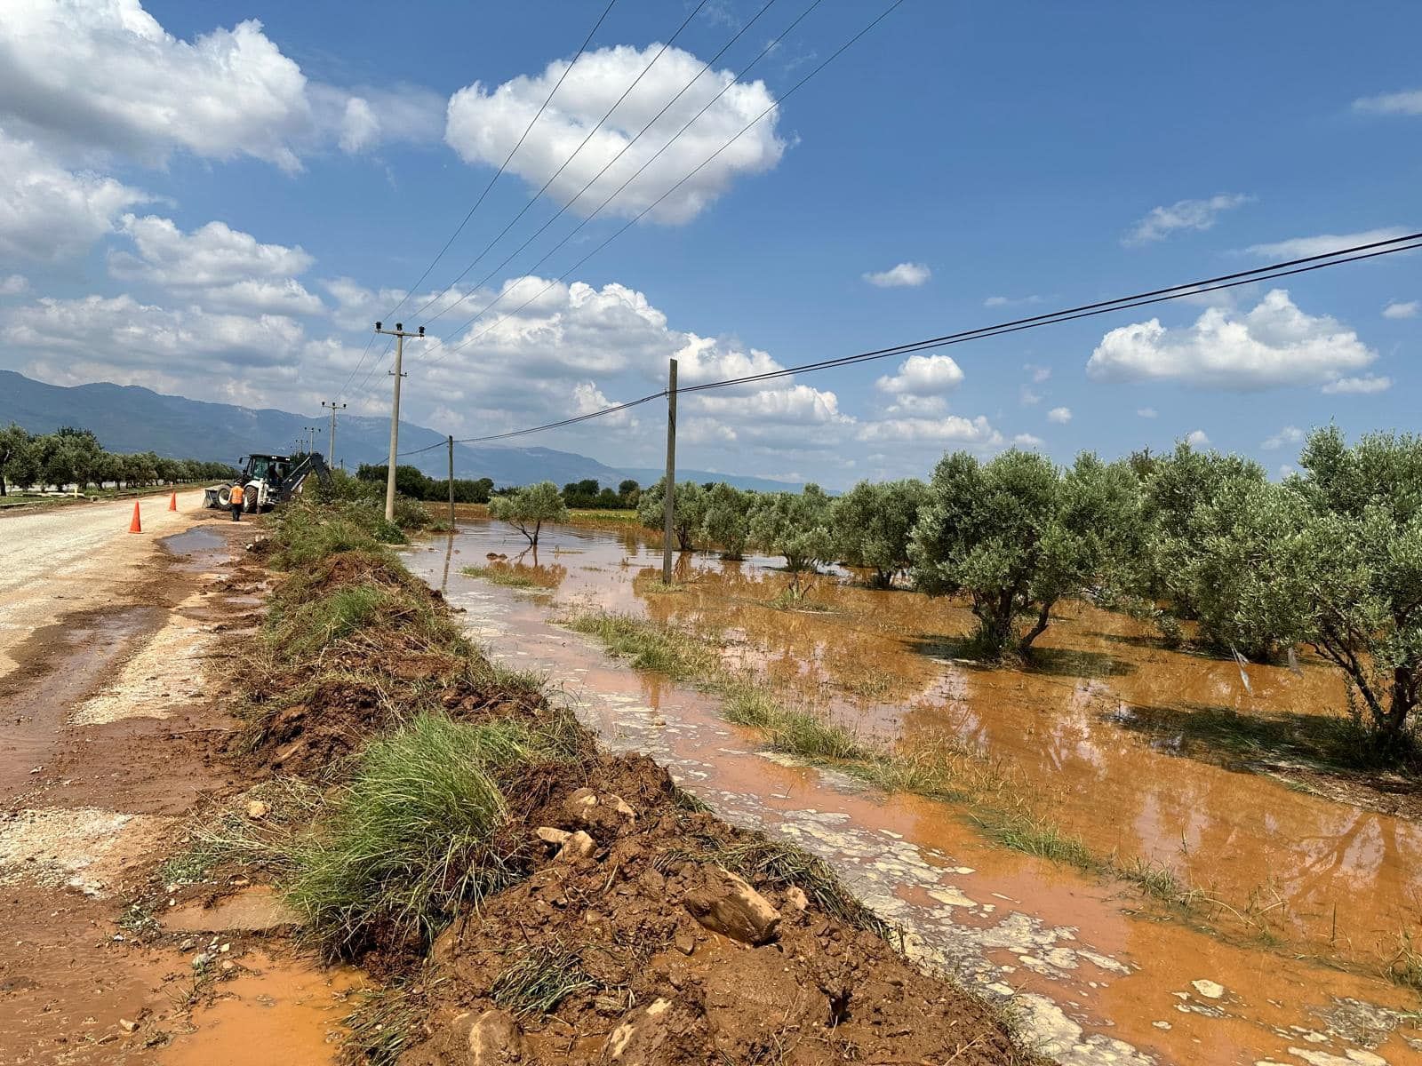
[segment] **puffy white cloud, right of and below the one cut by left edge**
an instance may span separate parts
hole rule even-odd
[[[209,310],[320,314],[324,304],[296,280],[311,266],[301,247],[263,244],[222,222],[183,233],[172,219],[125,215],[135,253],[111,252],[109,273],[196,296]]]

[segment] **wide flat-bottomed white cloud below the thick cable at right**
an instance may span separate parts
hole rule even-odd
[[[1183,381],[1226,389],[1322,385],[1361,370],[1376,352],[1328,316],[1298,310],[1283,289],[1247,314],[1206,310],[1194,325],[1158,318],[1112,330],[1086,362],[1096,381]]]

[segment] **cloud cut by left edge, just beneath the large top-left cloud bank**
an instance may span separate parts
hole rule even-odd
[[[112,178],[67,171],[0,129],[0,254],[50,263],[81,256],[121,210],[146,199]]]

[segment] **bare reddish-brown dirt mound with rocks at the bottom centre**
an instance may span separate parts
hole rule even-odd
[[[973,1066],[1020,1057],[977,999],[828,912],[816,897],[822,884],[748,870],[747,885],[729,874],[722,863],[737,866],[747,844],[778,846],[688,809],[651,760],[603,756],[580,779],[540,785],[519,812],[532,873],[435,941],[422,979],[427,1039],[402,1066],[468,1063],[471,1048],[498,1033],[512,1042],[508,1053],[485,1049],[482,1060]],[[539,827],[587,833],[592,853],[545,844]],[[725,935],[708,927],[714,917],[693,917],[707,908],[688,903],[708,895],[735,912],[748,903],[775,914],[769,941],[751,947],[734,925]],[[530,1059],[512,1057],[519,1039]]]

